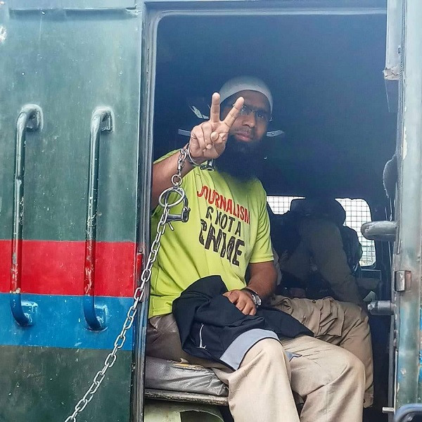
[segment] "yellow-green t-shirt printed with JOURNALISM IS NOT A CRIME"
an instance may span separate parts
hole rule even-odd
[[[228,290],[241,289],[249,263],[273,260],[267,196],[259,180],[238,181],[217,170],[194,168],[181,186],[191,213],[188,222],[174,222],[174,231],[167,227],[161,238],[151,276],[150,317],[170,314],[173,300],[202,277],[218,274]],[[161,215],[158,206],[151,221],[153,238]]]

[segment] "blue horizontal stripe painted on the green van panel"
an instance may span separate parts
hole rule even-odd
[[[90,331],[84,319],[84,296],[23,294],[25,302],[35,302],[34,324],[21,327],[13,319],[8,293],[0,293],[0,345],[113,349],[132,298],[96,297],[96,305],[106,307],[103,331]],[[123,350],[132,350],[132,331]]]

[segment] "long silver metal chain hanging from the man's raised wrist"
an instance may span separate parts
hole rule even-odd
[[[185,161],[186,161],[187,151],[186,149],[181,149],[179,151],[179,159],[177,160],[177,173],[173,174],[172,176],[172,184],[173,186],[166,189],[160,195],[159,203],[163,203],[164,210],[162,212],[160,221],[157,225],[157,234],[155,235],[153,244],[151,245],[151,250],[148,255],[148,260],[146,262],[146,266],[142,271],[141,274],[141,284],[139,287],[136,288],[134,292],[134,303],[127,311],[126,319],[124,320],[122,331],[120,334],[117,335],[115,339],[113,350],[108,354],[104,361],[104,366],[101,371],[98,371],[94,376],[94,380],[91,383],[91,386],[88,388],[87,392],[85,392],[84,397],[77,402],[75,406],[75,410],[73,413],[65,419],[65,422],[77,422],[76,418],[77,415],[84,411],[85,407],[91,402],[92,398],[94,397],[95,393],[97,392],[98,388],[100,387],[101,383],[103,382],[104,378],[106,377],[106,372],[109,368],[111,368],[117,359],[117,350],[120,350],[124,342],[126,341],[126,333],[127,331],[132,328],[134,324],[134,319],[136,316],[137,308],[139,302],[143,299],[145,295],[145,286],[148,281],[151,279],[151,270],[153,268],[153,263],[157,259],[158,250],[160,250],[160,239],[161,236],[165,233],[165,229],[167,224],[169,224],[170,229],[173,230],[170,222],[167,221],[167,217],[169,216],[170,209],[181,202],[186,197],[186,193],[184,192],[183,188],[180,187],[181,184],[181,170],[183,170]],[[181,196],[181,200],[175,200],[173,203],[169,203],[170,193],[175,192]],[[174,221],[174,220],[173,220]],[[184,221],[181,219],[181,221]]]

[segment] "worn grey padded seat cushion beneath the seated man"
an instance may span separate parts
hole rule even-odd
[[[229,393],[227,386],[219,381],[211,369],[150,356],[146,357],[145,387],[148,390],[162,392],[196,393],[218,397],[227,397]],[[173,397],[174,394],[169,395],[169,399],[170,396]],[[185,401],[183,397],[184,395],[181,395],[181,401]]]

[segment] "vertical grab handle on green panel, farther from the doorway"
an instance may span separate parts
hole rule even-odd
[[[13,229],[11,256],[11,289],[10,304],[13,318],[20,326],[34,323],[37,303],[23,301],[20,297],[22,274],[22,234],[23,234],[23,201],[25,175],[25,139],[27,131],[41,130],[43,125],[42,110],[36,104],[26,104],[21,108],[16,120],[15,132],[15,166],[13,171]]]

